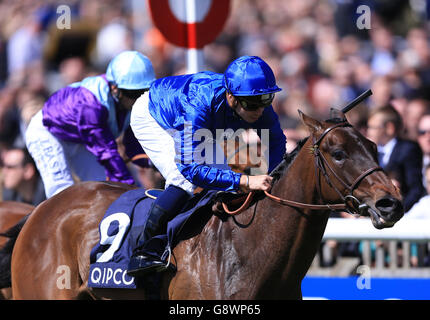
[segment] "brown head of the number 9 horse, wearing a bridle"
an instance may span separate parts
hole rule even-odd
[[[392,227],[403,216],[399,190],[378,166],[376,145],[354,129],[341,111],[320,122],[299,111],[310,130],[317,189],[323,201],[343,201],[348,211],[370,216],[375,228]]]

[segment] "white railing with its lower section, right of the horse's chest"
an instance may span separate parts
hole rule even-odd
[[[359,256],[349,258],[337,256],[335,249],[337,245],[334,247],[328,240],[334,240],[336,243],[360,242]],[[430,219],[406,217],[391,228],[378,230],[373,227],[369,218],[330,218],[323,241],[326,242],[322,251],[315,257],[309,274],[348,276],[355,274],[355,269],[361,261],[361,264],[372,269],[373,276],[430,278],[430,268],[425,263],[425,257],[428,258],[430,249]],[[339,259],[335,265],[331,267],[320,265],[320,263],[330,265],[336,257]]]

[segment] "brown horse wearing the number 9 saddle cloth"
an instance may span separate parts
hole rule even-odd
[[[162,298],[300,299],[331,209],[370,215],[376,228],[403,216],[374,143],[343,114],[337,123],[300,115],[310,136],[276,169],[271,194],[235,219],[212,216],[201,233],[180,242],[173,250],[177,272],[163,274]],[[131,188],[85,182],[39,205],[13,250],[14,299],[145,298],[140,289],[86,285],[99,222]]]

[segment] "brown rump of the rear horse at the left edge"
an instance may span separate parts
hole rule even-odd
[[[6,244],[7,237],[3,236],[7,230],[16,225],[21,219],[33,211],[34,206],[22,202],[0,202],[0,248]],[[12,298],[11,288],[0,290],[0,299]]]

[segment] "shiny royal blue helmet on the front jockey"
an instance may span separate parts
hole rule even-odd
[[[260,96],[282,90],[269,65],[256,56],[234,60],[224,73],[224,86],[234,96]]]

